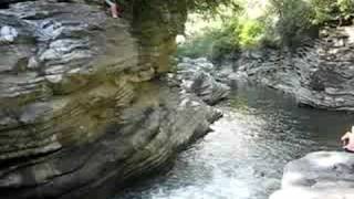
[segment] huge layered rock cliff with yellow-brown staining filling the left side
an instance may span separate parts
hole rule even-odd
[[[0,10],[1,199],[105,198],[163,166],[220,116],[157,77],[184,2],[135,8],[128,21],[94,2]]]

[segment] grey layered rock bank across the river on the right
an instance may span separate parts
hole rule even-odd
[[[295,51],[263,49],[244,52],[223,78],[247,77],[292,93],[300,104],[354,111],[354,28],[327,28],[320,40]]]

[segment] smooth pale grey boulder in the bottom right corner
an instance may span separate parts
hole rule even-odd
[[[354,155],[319,151],[291,161],[283,174],[281,190],[270,199],[354,198]]]

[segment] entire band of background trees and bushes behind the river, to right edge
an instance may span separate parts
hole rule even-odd
[[[354,19],[354,0],[189,0],[188,4],[191,13],[220,24],[187,35],[178,52],[211,59],[250,48],[295,48],[316,36],[323,25],[351,24]]]

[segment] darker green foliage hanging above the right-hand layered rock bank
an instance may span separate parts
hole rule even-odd
[[[313,28],[342,24],[354,17],[354,0],[270,0],[279,21],[277,32],[285,45],[295,46]]]

